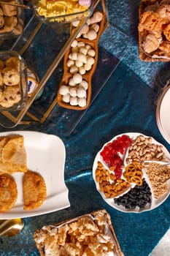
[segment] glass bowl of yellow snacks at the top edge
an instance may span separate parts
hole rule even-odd
[[[55,8],[59,11],[57,12]],[[71,23],[74,20],[89,17],[93,13],[93,0],[89,7],[80,6],[76,0],[70,3],[69,1],[36,0],[34,13],[43,23]]]

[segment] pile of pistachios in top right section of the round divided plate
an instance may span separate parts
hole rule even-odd
[[[144,160],[162,161],[163,159],[165,159],[163,146],[152,143],[152,138],[150,137],[146,138],[143,135],[139,135],[132,141],[128,149],[126,163]]]

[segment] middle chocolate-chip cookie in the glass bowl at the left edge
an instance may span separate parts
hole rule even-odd
[[[16,69],[6,67],[3,69],[4,73],[4,84],[7,86],[15,86],[20,83],[20,74]]]

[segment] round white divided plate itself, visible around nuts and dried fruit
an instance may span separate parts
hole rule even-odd
[[[128,133],[123,133],[121,135],[128,135],[131,139],[135,139],[137,136],[142,135],[142,134],[141,133],[137,133],[137,132],[128,132]],[[118,136],[121,136],[121,135],[117,135],[115,138],[112,138],[112,140],[115,140]],[[146,138],[148,137],[146,135],[143,135],[143,136],[146,137]],[[112,140],[108,141],[107,143],[112,142]],[[106,146],[107,143],[105,143],[104,146]],[[156,141],[154,138],[152,138],[152,143],[155,143],[155,144],[158,144],[158,145],[162,145],[161,143],[158,143],[158,141]],[[164,194],[163,196],[158,197],[158,199],[155,199],[152,196],[152,202],[151,203],[147,203],[147,206],[144,207],[144,208],[136,207],[134,209],[128,209],[128,208],[125,208],[123,206],[118,206],[114,202],[114,198],[107,198],[107,197],[105,197],[104,193],[101,192],[100,189],[99,189],[98,182],[96,182],[96,176],[95,176],[96,167],[97,167],[98,161],[101,162],[104,165],[104,167],[109,169],[109,167],[105,164],[104,160],[102,159],[102,157],[100,155],[100,152],[103,150],[104,146],[101,148],[100,151],[98,151],[98,154],[96,154],[96,157],[94,159],[94,162],[93,162],[93,179],[94,179],[95,184],[96,184],[96,189],[101,194],[101,197],[104,199],[104,201],[109,204],[109,206],[112,206],[113,208],[116,208],[118,211],[123,211],[123,212],[126,212],[126,213],[129,213],[129,212],[140,213],[142,211],[150,211],[150,210],[152,210],[154,208],[157,208],[158,206],[160,206],[166,200],[167,197],[169,197],[169,193],[170,193],[170,180],[168,181],[168,187],[169,187],[168,192],[166,194]],[[169,151],[164,146],[163,146],[163,151],[166,154],[166,158],[170,159]],[[125,158],[125,156],[122,156],[122,157],[123,157],[123,159]],[[124,163],[125,163],[125,159],[124,159]],[[150,184],[150,180],[149,180],[149,178],[147,177],[147,175],[146,175],[146,173],[144,171],[143,171],[143,173],[144,173],[143,178],[145,178],[145,180],[147,181],[147,184],[149,185],[149,187],[151,189],[151,192],[152,192],[152,186]],[[152,195],[153,195],[153,192],[152,192]]]

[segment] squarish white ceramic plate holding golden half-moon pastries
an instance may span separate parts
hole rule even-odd
[[[0,136],[9,134],[23,135],[28,170],[40,173],[45,179],[47,198],[41,207],[24,211],[23,173],[14,173],[12,176],[18,186],[18,200],[10,211],[0,213],[0,219],[31,217],[69,207],[69,191],[64,181],[66,151],[63,141],[55,135],[31,131],[1,132]]]

